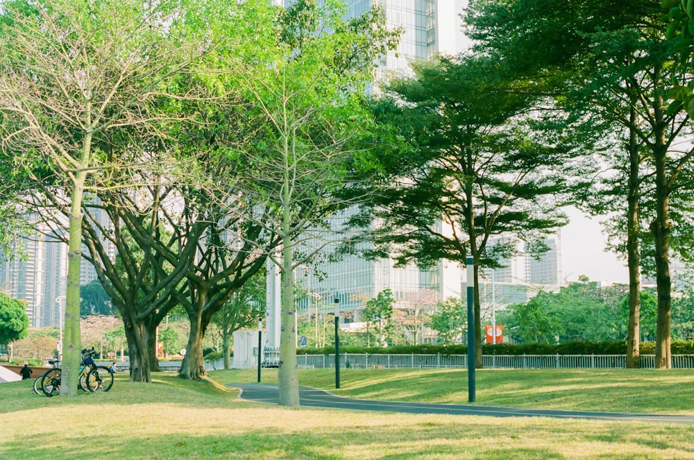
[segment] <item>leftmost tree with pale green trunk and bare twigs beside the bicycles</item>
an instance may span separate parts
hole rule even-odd
[[[187,33],[185,9],[175,0],[3,3],[2,148],[32,187],[69,202],[62,395],[78,387],[85,190],[127,187],[135,169],[160,165],[151,156],[160,126],[183,121],[160,103],[209,46]],[[125,169],[127,182],[112,182],[110,173]]]

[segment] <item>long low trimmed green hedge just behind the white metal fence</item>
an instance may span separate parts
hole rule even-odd
[[[670,346],[672,355],[694,355],[694,341],[672,341]],[[299,348],[299,355],[330,355],[335,352],[334,346],[323,348]],[[370,355],[466,355],[466,345],[417,345],[417,346],[392,346],[387,348],[341,346],[341,353],[355,353]],[[627,352],[626,341],[604,342],[565,342],[557,345],[550,343],[485,343],[482,345],[482,355],[625,355]],[[654,355],[655,343],[642,342],[642,355]]]

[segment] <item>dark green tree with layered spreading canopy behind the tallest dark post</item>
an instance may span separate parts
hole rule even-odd
[[[533,241],[566,223],[560,207],[584,172],[563,125],[537,110],[532,82],[502,70],[486,56],[440,57],[389,85],[374,112],[407,140],[381,153],[380,193],[364,212],[379,223],[375,255],[399,265],[473,257],[477,343],[479,270],[496,264],[486,257],[490,237]],[[480,367],[481,348],[475,354]]]

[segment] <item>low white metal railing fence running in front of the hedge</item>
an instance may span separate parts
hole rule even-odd
[[[299,368],[334,368],[335,355],[298,355]],[[627,355],[489,355],[487,369],[625,368]],[[672,368],[694,368],[694,355],[672,355]],[[341,368],[439,369],[467,368],[467,355],[369,355],[344,353]],[[654,368],[654,355],[641,355],[641,368]]]

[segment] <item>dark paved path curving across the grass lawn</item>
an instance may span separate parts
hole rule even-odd
[[[277,385],[270,384],[227,384],[240,389],[239,398],[256,402],[278,404]],[[372,401],[336,396],[328,391],[299,387],[299,400],[305,407],[350,409],[359,411],[408,412],[410,414],[447,414],[491,417],[555,417],[591,418],[595,420],[629,420],[655,423],[684,423],[694,425],[694,416],[669,416],[660,414],[623,414],[619,412],[549,411],[543,409],[513,409],[457,404],[429,404],[418,402]]]

